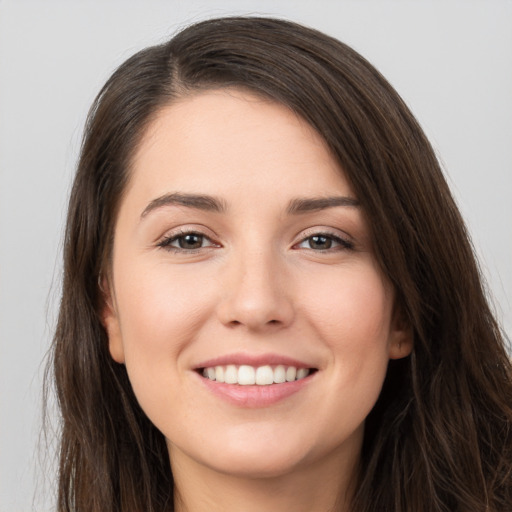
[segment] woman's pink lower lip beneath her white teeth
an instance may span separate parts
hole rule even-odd
[[[316,375],[314,372],[303,379],[268,386],[241,386],[207,379],[199,374],[201,382],[219,398],[239,407],[269,407],[303,390]]]

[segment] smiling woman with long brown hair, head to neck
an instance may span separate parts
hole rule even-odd
[[[89,116],[59,510],[505,511],[510,362],[432,148],[361,56],[189,27]]]

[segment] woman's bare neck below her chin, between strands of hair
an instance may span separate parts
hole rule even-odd
[[[171,457],[171,460],[174,457]],[[173,464],[176,512],[349,512],[357,457],[339,457],[286,475],[219,473],[188,458]],[[344,467],[343,467],[344,466]]]

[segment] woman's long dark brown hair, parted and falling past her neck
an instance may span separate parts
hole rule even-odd
[[[414,334],[367,418],[357,512],[512,509],[512,370],[464,223],[421,128],[343,43],[276,19],[195,24],[125,62],[91,109],[69,203],[53,364],[62,411],[58,510],[173,510],[163,435],[101,324],[99,279],[130,160],[155,113],[204,89],[282,103],[325,139],[369,220]],[[335,426],[333,426],[335,428]]]

